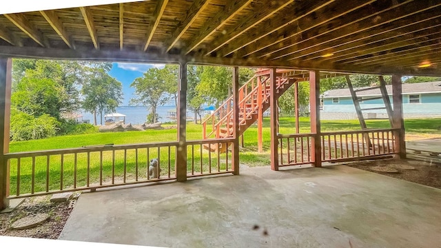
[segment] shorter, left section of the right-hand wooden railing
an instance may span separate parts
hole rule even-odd
[[[279,134],[279,167],[314,163],[311,158],[311,140],[314,134]]]

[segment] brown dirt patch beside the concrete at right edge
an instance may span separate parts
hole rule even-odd
[[[441,164],[438,163],[427,163],[411,159],[387,159],[348,163],[347,165],[368,172],[375,172],[385,176],[441,189]],[[394,168],[398,170],[398,173],[375,171],[374,169],[378,167]]]

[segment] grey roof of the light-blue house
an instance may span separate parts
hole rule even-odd
[[[354,90],[360,88],[368,87],[358,87]],[[392,85],[386,85],[387,93],[392,94]],[[441,81],[429,82],[429,83],[403,83],[402,84],[402,94],[422,94],[422,93],[435,93],[441,92]],[[364,90],[357,92],[357,96],[380,96],[380,89],[376,88],[373,90]],[[328,90],[322,94],[323,98],[332,97],[351,97],[351,92],[349,88],[338,89],[338,90]]]

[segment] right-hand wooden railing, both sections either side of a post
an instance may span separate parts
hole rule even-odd
[[[399,129],[322,132],[319,141],[322,162],[357,161],[397,154],[394,132]],[[278,166],[314,163],[311,141],[315,137],[316,134],[279,134]]]

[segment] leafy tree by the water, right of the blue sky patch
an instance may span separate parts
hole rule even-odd
[[[169,100],[167,97],[169,85],[165,83],[161,69],[150,68],[143,76],[136,78],[130,86],[135,88],[135,97],[130,99],[130,103],[148,106],[152,116],[152,120],[149,121],[156,123],[158,121],[157,107],[164,105]]]

